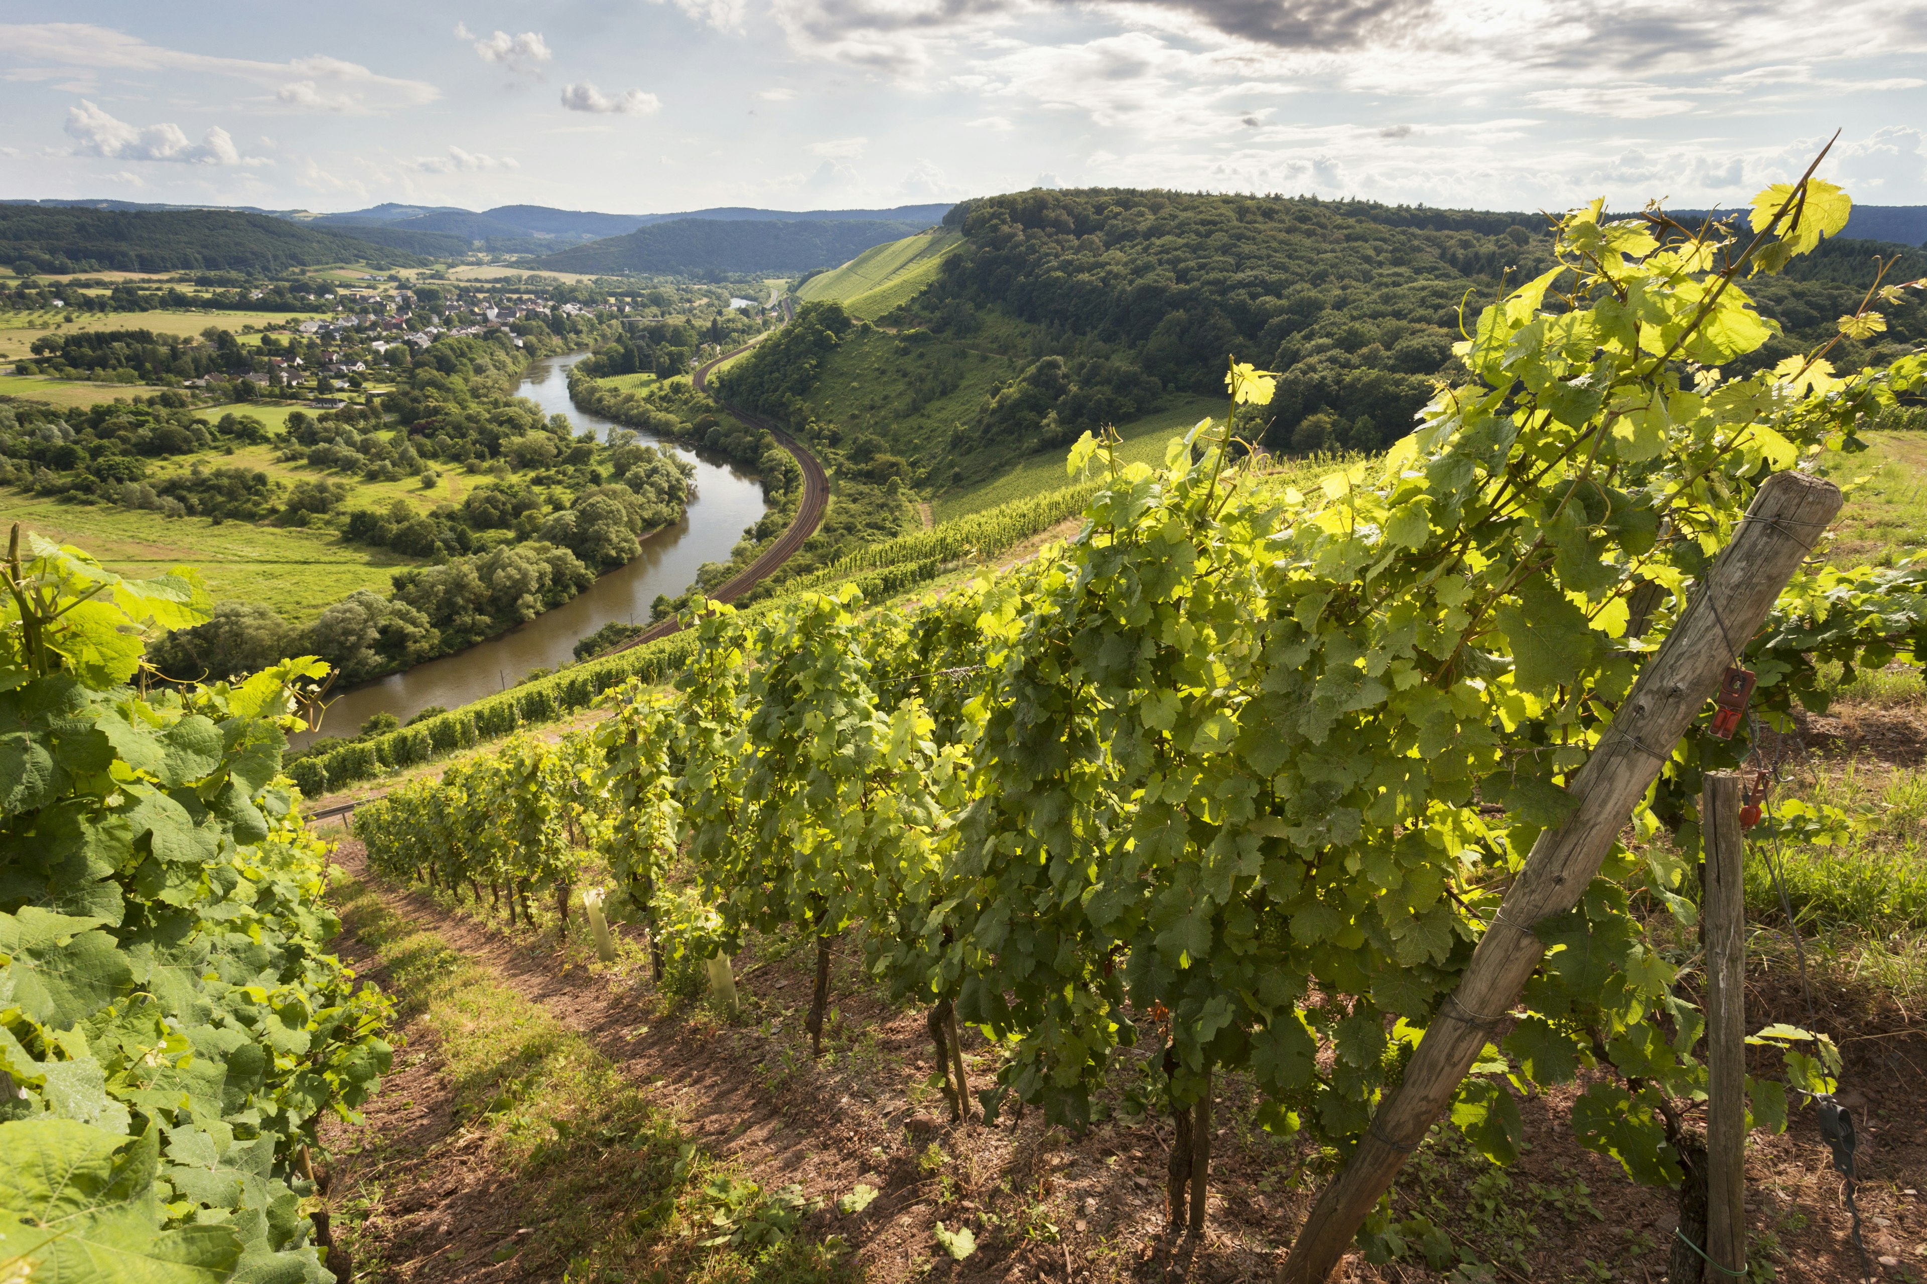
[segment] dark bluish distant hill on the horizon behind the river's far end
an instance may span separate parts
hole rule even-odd
[[[536,262],[547,271],[659,271],[678,275],[807,271],[840,264],[923,223],[890,219],[709,219],[649,223]]]

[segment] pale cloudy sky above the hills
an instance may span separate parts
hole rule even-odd
[[[0,196],[1927,204],[1927,0],[0,0]]]

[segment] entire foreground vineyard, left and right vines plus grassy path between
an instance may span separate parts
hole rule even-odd
[[[1723,1091],[1703,787],[1748,774],[1755,853],[1840,851],[1854,820],[1767,793],[1759,768],[1842,685],[1927,660],[1927,566],[1833,566],[1825,545],[1829,474],[1850,477],[1863,425],[1927,389],[1927,356],[1750,360],[1773,327],[1746,281],[1848,210],[1808,177],[1761,193],[1744,229],[1572,212],[1557,266],[1468,306],[1463,373],[1382,456],[1272,466],[1251,443],[1274,377],[1233,360],[1226,414],[1162,468],[1085,433],[1064,491],[742,610],[703,603],[667,639],[303,758],[291,782],[283,732],[322,664],[127,685],[141,628],[204,616],[193,579],[15,549],[0,1280],[324,1284],[362,1278],[353,1255],[368,1278],[1083,1284],[1204,1263],[1199,1278],[1289,1282],[1347,1253],[1353,1278],[1528,1278],[1538,1230],[1507,1220],[1524,1195],[1505,1192],[1569,1220],[1603,1220],[1592,1201],[1609,1199],[1505,1176],[1528,1163],[1528,1113],[1553,1105],[1617,1180],[1676,1192],[1678,1217],[1667,1244],[1544,1278],[1736,1274],[1692,1230]],[[1910,287],[1877,279],[1840,333],[1877,333]],[[1037,556],[981,564],[1079,514]],[[530,730],[592,705],[588,726]],[[437,755],[439,776],[355,810],[337,874],[356,949],[428,1038],[401,1082],[447,1097],[443,1140],[407,1151],[347,1126],[391,1068],[391,1001],[322,953],[324,847],[295,805]],[[1784,912],[1798,949],[1779,868],[1750,868],[1748,909]],[[489,939],[515,986],[474,963]],[[568,984],[595,1038],[530,1011],[538,939],[582,964]],[[757,1005],[744,959],[800,961],[800,1030]],[[933,1068],[910,1095],[929,1113],[863,1122],[886,1074],[858,1011],[913,1032],[921,1047],[890,1055]],[[673,1018],[715,1047],[757,1022],[780,1047],[757,1063],[771,1091],[844,1059],[842,1097],[805,1105],[867,1167],[792,1145],[771,1167],[794,1184],[752,1180],[719,1145],[753,1115],[709,1142],[680,1130],[661,1103],[723,1055],[676,1063],[680,1082],[622,1070]],[[1794,1120],[1838,1128],[1842,1043],[1817,1018],[1746,1036],[1754,1145]],[[426,1082],[430,1055],[449,1086]],[[1069,1168],[1043,1151],[1098,1136],[1096,1167],[1156,1157],[1158,1228],[1073,1261],[1096,1199],[1066,1205]],[[1008,1138],[1000,1172],[971,1138]],[[324,1145],[353,1207],[322,1188]],[[447,1217],[383,1259],[401,1232],[382,1222],[420,1211],[383,1203],[407,1180],[383,1145],[434,1172],[410,1197],[488,1219],[493,1240]],[[443,1184],[468,1145],[513,1159],[526,1190]],[[1241,1159],[1251,1188],[1224,1190],[1231,1145],[1274,1168]],[[1214,1219],[1276,1174],[1307,1195],[1283,1251],[1208,1271]],[[871,1251],[865,1226],[925,1201],[933,1226]],[[1478,1242],[1463,1207],[1484,1209]],[[1754,1278],[1769,1257],[1757,1242]]]

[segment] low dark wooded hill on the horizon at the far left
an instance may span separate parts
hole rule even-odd
[[[416,260],[370,241],[237,210],[83,210],[0,204],[0,264],[37,271],[279,271]]]

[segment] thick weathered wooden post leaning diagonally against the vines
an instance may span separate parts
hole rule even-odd
[[[1565,824],[1540,834],[1403,1082],[1380,1103],[1351,1163],[1318,1195],[1278,1272],[1280,1284],[1316,1284],[1332,1274],[1540,964],[1545,945],[1532,934],[1534,924],[1578,905],[1634,805],[1732,662],[1732,647],[1744,647],[1759,629],[1838,510],[1836,485],[1798,472],[1767,477],[1754,495],[1732,543],[1567,785],[1578,807]]]

